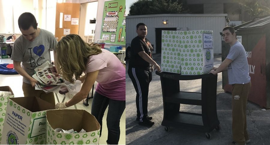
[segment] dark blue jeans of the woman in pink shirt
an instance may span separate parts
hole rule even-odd
[[[113,100],[95,92],[92,102],[91,114],[96,117],[101,125],[100,136],[102,132],[102,118],[109,105],[107,114],[108,144],[118,144],[120,138],[120,118],[125,110],[126,101]]]

